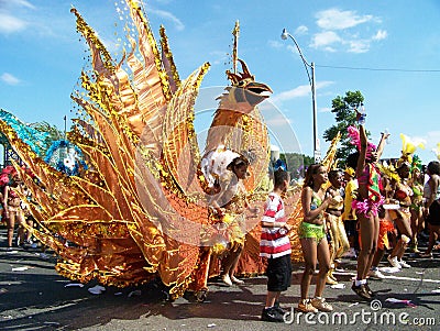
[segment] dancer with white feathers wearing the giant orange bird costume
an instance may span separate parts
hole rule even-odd
[[[224,284],[243,284],[234,276],[234,272],[245,241],[244,211],[257,212],[257,209],[250,207],[242,184],[248,176],[248,158],[219,146],[205,161],[202,170],[212,181],[212,195],[208,200],[212,227],[208,224],[209,231],[201,239],[200,264],[206,265],[199,268],[196,282],[190,286],[200,301],[205,300],[208,277],[216,268],[217,258],[221,258],[220,277]],[[212,229],[217,229],[217,234],[211,233]]]

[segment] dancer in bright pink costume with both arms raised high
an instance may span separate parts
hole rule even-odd
[[[358,111],[356,111],[358,112]],[[352,290],[363,299],[371,299],[374,293],[366,283],[366,276],[373,263],[374,253],[377,249],[380,220],[378,207],[384,203],[381,195],[380,174],[376,170],[376,162],[381,157],[387,133],[382,133],[381,142],[376,146],[367,141],[363,125],[363,114],[358,112],[359,131],[349,126],[349,135],[352,144],[356,145],[359,152],[350,154],[346,164],[356,169],[359,184],[358,199],[353,200],[352,207],[356,210],[360,223],[361,251],[358,257],[358,275],[353,282]]]

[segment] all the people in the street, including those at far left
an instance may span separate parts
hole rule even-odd
[[[378,269],[386,260],[392,267],[409,268],[404,260],[410,251],[420,257],[432,257],[440,236],[440,163],[422,167],[417,157],[404,154],[395,164],[380,162],[387,134],[378,145],[369,142],[365,128],[349,128],[349,135],[358,151],[350,154],[344,169],[312,164],[307,168],[300,194],[302,219],[297,229],[300,241],[304,273],[297,309],[302,312],[332,311],[324,298],[327,285],[338,284],[333,275],[342,258],[356,257],[356,276],[351,289],[362,299],[371,300],[375,293],[369,278],[384,278]],[[212,218],[223,220],[233,216],[229,229],[235,233],[229,246],[221,252],[220,279],[228,286],[243,284],[234,273],[244,247],[244,211],[262,214],[260,256],[266,262],[267,296],[262,320],[283,322],[280,294],[292,284],[292,247],[288,236],[283,196],[290,178],[285,166],[274,172],[274,189],[268,194],[264,211],[251,208],[242,180],[248,176],[249,161],[234,157],[227,166],[228,178],[218,183],[218,191],[210,199]],[[426,180],[427,177],[427,180]],[[224,179],[224,180],[223,180]],[[30,194],[12,167],[0,175],[2,220],[7,225],[7,250],[14,245],[32,244],[32,216],[29,212]],[[14,228],[18,233],[14,239]],[[424,231],[429,231],[426,252],[418,243]],[[206,263],[212,260],[207,250]],[[208,254],[209,253],[209,254]],[[209,268],[202,279],[204,288]],[[315,294],[309,290],[316,276]]]

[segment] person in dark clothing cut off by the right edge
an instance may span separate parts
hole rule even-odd
[[[427,166],[429,180],[425,185],[425,220],[429,227],[429,245],[421,257],[432,258],[432,249],[440,236],[440,163],[431,161]]]

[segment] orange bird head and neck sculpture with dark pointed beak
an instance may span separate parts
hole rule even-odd
[[[218,98],[220,104],[209,128],[202,163],[206,165],[205,174],[210,173],[209,169],[218,163],[217,156],[222,159],[223,153],[219,153],[219,148],[249,158],[253,179],[248,180],[246,186],[252,190],[260,181],[263,169],[267,168],[267,130],[256,106],[271,96],[272,89],[255,81],[246,64],[241,59],[239,62],[242,73],[227,70],[231,86]],[[228,165],[228,162],[223,163]]]

